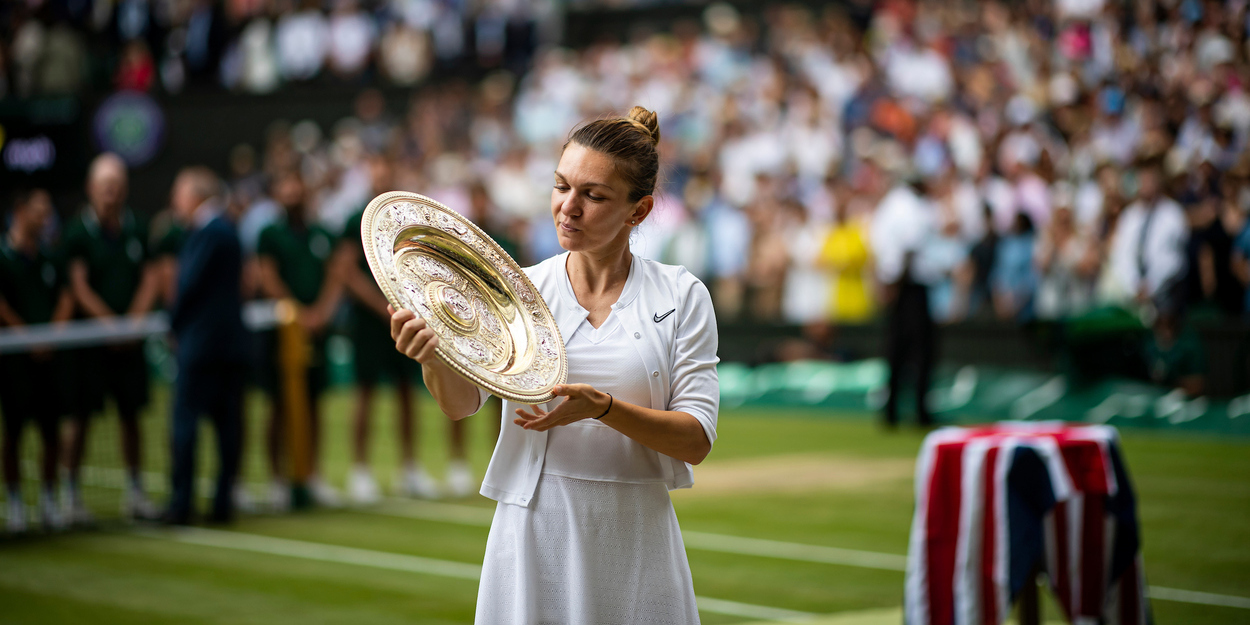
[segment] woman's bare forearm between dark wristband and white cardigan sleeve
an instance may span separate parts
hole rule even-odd
[[[702,425],[689,412],[652,410],[614,399],[600,421],[649,449],[692,465],[711,451]]]

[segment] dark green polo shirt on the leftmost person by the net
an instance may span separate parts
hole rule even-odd
[[[28,324],[52,320],[65,272],[52,254],[40,249],[26,256],[0,240],[0,296]]]

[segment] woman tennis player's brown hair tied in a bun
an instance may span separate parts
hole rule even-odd
[[[624,118],[608,118],[585,124],[569,134],[569,144],[612,158],[616,172],[629,185],[629,201],[638,201],[655,192],[660,172],[660,118],[641,106],[630,109]]]

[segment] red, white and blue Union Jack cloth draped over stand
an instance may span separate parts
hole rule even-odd
[[[1146,625],[1136,502],[1114,428],[944,428],[916,464],[908,625],[999,625],[1035,566],[1074,624]]]

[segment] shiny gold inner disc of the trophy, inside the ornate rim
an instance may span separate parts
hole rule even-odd
[[[538,348],[532,320],[508,276],[479,252],[451,234],[416,225],[396,235],[394,259],[396,268],[426,276],[428,311],[452,335],[446,348],[500,375],[530,368]]]

